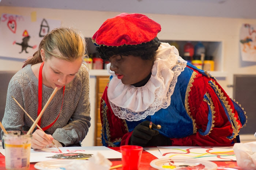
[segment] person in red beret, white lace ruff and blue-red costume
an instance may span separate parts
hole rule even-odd
[[[111,74],[101,98],[103,146],[231,146],[243,109],[209,73],[157,38],[138,13],[107,19],[92,40]],[[150,122],[153,122],[150,128]]]

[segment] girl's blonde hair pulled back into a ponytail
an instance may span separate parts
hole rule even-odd
[[[85,55],[85,39],[82,33],[73,28],[55,28],[44,36],[33,57],[27,59],[23,65],[41,63],[41,49],[45,52],[45,60],[54,56],[56,58],[74,61]],[[59,52],[58,52],[59,51]]]

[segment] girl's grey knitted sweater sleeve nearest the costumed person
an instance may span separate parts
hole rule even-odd
[[[73,82],[76,88],[71,91],[74,93],[75,100],[78,100],[76,108],[71,115],[68,123],[58,128],[52,134],[53,138],[63,143],[65,146],[69,146],[82,141],[89,131],[91,126],[90,120],[90,97],[89,97],[89,72],[86,68],[82,68],[82,71],[78,73],[80,83]],[[72,101],[71,101],[72,103]],[[71,108],[74,106],[70,106]],[[68,109],[67,109],[68,110]]]

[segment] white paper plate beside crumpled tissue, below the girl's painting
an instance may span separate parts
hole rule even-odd
[[[66,170],[74,166],[75,160],[71,159],[57,159],[51,161],[37,162],[34,167],[38,170]],[[76,160],[78,161],[78,160]]]

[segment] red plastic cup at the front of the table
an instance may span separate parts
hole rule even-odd
[[[143,147],[136,145],[120,146],[123,170],[138,170]]]

